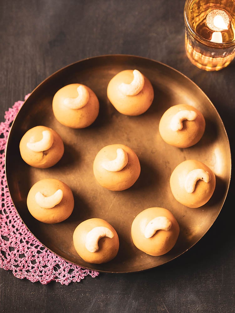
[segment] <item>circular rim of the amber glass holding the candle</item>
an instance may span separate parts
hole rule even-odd
[[[213,48],[228,48],[228,47],[233,47],[235,46],[235,38],[231,42],[224,42],[224,43],[217,43],[210,41],[208,39],[205,39],[198,35],[196,31],[191,27],[191,24],[189,23],[189,18],[188,18],[188,9],[190,7],[190,4],[195,1],[195,0],[186,0],[185,5],[184,5],[184,20],[185,20],[185,28],[189,30],[193,38],[195,38],[197,41],[199,41],[201,44],[213,47]]]

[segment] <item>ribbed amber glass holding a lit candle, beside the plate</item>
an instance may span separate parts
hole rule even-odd
[[[187,0],[185,51],[191,63],[220,70],[235,57],[235,0]]]

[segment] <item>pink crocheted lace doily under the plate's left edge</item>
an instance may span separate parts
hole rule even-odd
[[[29,95],[25,96],[25,100]],[[24,225],[11,200],[5,176],[5,148],[11,123],[24,101],[16,102],[5,113],[0,124],[0,267],[10,269],[17,278],[48,284],[55,280],[62,285],[79,282],[86,275],[96,277],[97,271],[83,269],[65,261],[45,248]]]

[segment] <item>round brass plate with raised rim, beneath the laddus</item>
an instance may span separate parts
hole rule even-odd
[[[136,117],[125,116],[107,99],[109,80],[123,69],[138,69],[154,87],[149,110]],[[55,92],[64,85],[89,86],[100,101],[97,120],[86,129],[60,125],[52,112]],[[201,141],[187,149],[167,145],[158,131],[159,119],[170,106],[188,103],[202,112],[206,130]],[[27,165],[19,153],[19,141],[31,127],[44,125],[57,131],[65,144],[60,162],[49,169]],[[106,145],[122,143],[138,155],[141,174],[128,190],[112,192],[97,184],[93,160]],[[216,190],[201,208],[179,204],[170,191],[173,169],[186,159],[197,159],[216,174]],[[222,120],[202,90],[175,69],[159,62],[130,55],[106,55],[81,60],[60,69],[44,80],[25,101],[16,116],[6,150],[8,188],[17,212],[31,233],[55,254],[88,269],[100,272],[137,272],[164,264],[187,251],[208,231],[227,196],[231,178],[231,152]],[[30,187],[40,179],[53,177],[68,184],[75,197],[72,215],[59,224],[44,224],[34,219],[26,206]],[[178,220],[180,235],[175,247],[159,257],[139,251],[130,237],[135,216],[149,207],[169,209]],[[89,264],[76,253],[72,235],[76,226],[88,218],[103,218],[116,229],[120,239],[118,255],[106,264]]]

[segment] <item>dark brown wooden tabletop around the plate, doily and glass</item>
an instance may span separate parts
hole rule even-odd
[[[235,63],[205,72],[186,58],[184,0],[0,2],[0,119],[50,74],[80,59],[133,54],[193,80],[218,110],[234,160]],[[190,250],[155,269],[87,276],[68,286],[0,269],[0,312],[235,312],[234,180],[215,223]],[[232,204],[231,204],[232,203]]]

